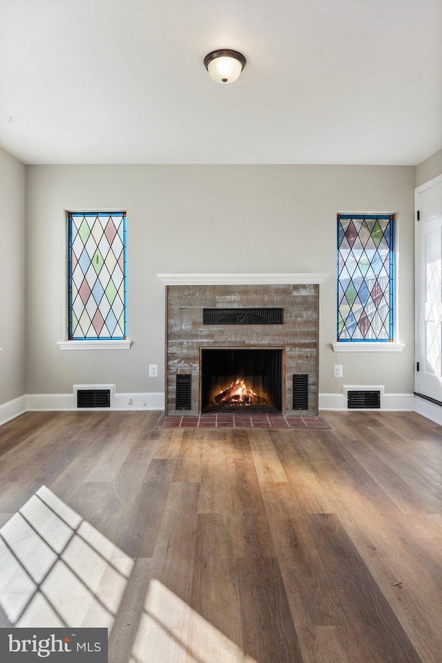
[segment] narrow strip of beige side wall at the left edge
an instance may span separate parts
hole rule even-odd
[[[0,405],[25,394],[25,166],[0,148]]]

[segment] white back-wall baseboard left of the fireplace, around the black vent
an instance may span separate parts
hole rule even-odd
[[[78,385],[76,385],[78,386]],[[129,403],[129,399],[132,403]],[[28,394],[26,410],[39,412],[48,410],[77,410],[76,394]],[[135,392],[134,394],[113,394],[111,407],[88,407],[90,410],[164,410],[164,392]],[[84,411],[81,408],[81,411]]]

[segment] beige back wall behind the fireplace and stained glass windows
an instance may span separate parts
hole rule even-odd
[[[157,272],[329,272],[320,292],[320,392],[413,391],[412,166],[27,166],[28,393],[75,383],[164,390],[164,286]],[[126,209],[130,351],[61,352],[65,210]],[[402,353],[336,354],[336,212],[398,214]],[[148,378],[157,363],[159,378]],[[343,364],[343,379],[333,365]]]

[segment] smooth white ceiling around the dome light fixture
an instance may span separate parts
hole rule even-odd
[[[235,83],[204,69],[216,48],[247,58]],[[0,144],[30,164],[416,164],[442,147],[442,1],[0,0]]]

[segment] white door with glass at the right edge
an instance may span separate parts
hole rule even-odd
[[[442,402],[442,182],[418,195],[416,392]]]

